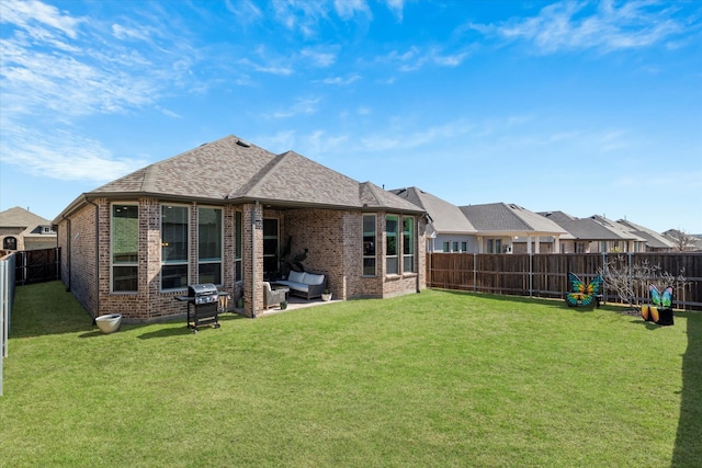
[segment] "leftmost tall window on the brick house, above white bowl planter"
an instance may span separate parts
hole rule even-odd
[[[112,205],[112,290],[136,293],[139,260],[139,207]]]

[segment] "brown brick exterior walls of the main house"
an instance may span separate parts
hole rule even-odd
[[[154,198],[138,202],[138,292],[112,293],[111,286],[111,203],[105,198],[80,207],[70,215],[70,222],[58,225],[58,246],[61,248],[61,279],[93,317],[122,313],[125,321],[154,321],[166,317],[182,317],[186,304],[174,300],[183,289],[161,292],[161,204]],[[207,206],[207,205],[203,205]],[[197,213],[190,207],[190,284],[197,283]],[[292,236],[292,252],[307,248],[305,270],[327,275],[335,298],[392,297],[416,293],[426,287],[424,220],[415,218],[415,272],[385,275],[385,213],[376,214],[377,274],[362,276],[363,212],[315,208],[274,209],[262,205],[223,206],[223,283],[220,289],[231,293],[234,307],[244,298],[244,313],[252,317],[263,310],[263,231],[254,219],[276,218],[279,241],[284,247]],[[242,276],[235,282],[235,214],[242,214]],[[401,216],[399,216],[399,253],[401,269]],[[95,232],[98,226],[98,232]],[[257,226],[257,227],[254,227]],[[98,237],[95,237],[98,235]],[[98,240],[98,242],[97,242]],[[95,261],[99,261],[97,263]],[[99,265],[99,272],[97,267]],[[98,273],[98,274],[97,274]],[[98,279],[99,278],[99,279]]]

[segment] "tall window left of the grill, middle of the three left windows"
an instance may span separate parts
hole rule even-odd
[[[186,206],[161,206],[161,289],[188,286]]]

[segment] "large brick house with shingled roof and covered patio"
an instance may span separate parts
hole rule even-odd
[[[256,317],[286,247],[335,298],[420,292],[426,221],[370,182],[228,136],[83,193],[54,222],[61,279],[89,313],[150,321],[183,315],[174,298],[202,283]]]

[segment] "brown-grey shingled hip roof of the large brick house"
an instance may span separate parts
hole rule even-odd
[[[360,183],[294,151],[272,153],[234,135],[139,169],[83,194],[154,196],[223,203],[260,201],[287,206],[421,209],[370,183]],[[64,214],[66,210],[64,212]]]

